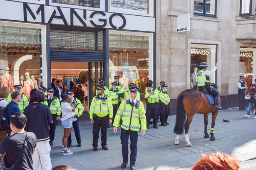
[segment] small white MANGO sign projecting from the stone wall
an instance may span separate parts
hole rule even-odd
[[[177,18],[177,33],[190,31],[190,14],[179,15]]]

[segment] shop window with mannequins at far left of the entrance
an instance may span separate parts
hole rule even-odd
[[[0,21],[1,87],[13,92],[13,85],[19,84],[27,98],[30,90],[42,83],[40,55],[43,56],[41,41],[44,38],[39,27],[42,26]]]

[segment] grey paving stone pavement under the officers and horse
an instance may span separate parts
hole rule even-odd
[[[169,116],[167,127],[159,126],[153,129],[152,125],[145,136],[139,136],[136,169],[144,170],[189,170],[203,155],[222,151],[236,157],[240,162],[256,157],[256,135],[254,129],[256,119],[244,118],[246,111],[238,109],[222,110],[216,119],[214,134],[216,141],[204,138],[204,116],[196,114],[189,128],[189,139],[193,147],[187,147],[185,136],[179,138],[180,145],[174,145],[175,134],[173,128],[176,116]],[[231,123],[222,121],[231,119]],[[160,124],[160,123],[159,123]],[[61,139],[63,128],[57,126],[54,145],[52,146],[52,166],[66,164],[77,170],[121,170],[122,151],[120,143],[120,128],[117,134],[113,128],[107,132],[108,151],[99,148],[92,150],[92,124],[88,116],[80,119],[82,147],[77,147],[75,134],[72,131],[72,146],[69,148],[73,155],[62,155]],[[209,115],[208,131],[210,133],[211,115]],[[99,137],[100,139],[100,137]],[[99,140],[99,146],[101,141]],[[129,169],[129,164],[126,168]]]

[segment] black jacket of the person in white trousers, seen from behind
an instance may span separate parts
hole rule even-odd
[[[33,132],[37,141],[49,139],[49,124],[52,122],[52,113],[49,107],[42,103],[31,103],[24,109],[27,117],[25,131]]]

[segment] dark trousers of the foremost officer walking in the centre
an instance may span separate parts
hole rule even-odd
[[[124,130],[121,128],[121,144],[122,144],[122,155],[123,155],[123,162],[128,162],[128,143],[129,143],[129,136],[130,136],[130,166],[135,165],[135,161],[137,158],[137,142],[138,142],[138,131],[131,131],[131,130]]]

